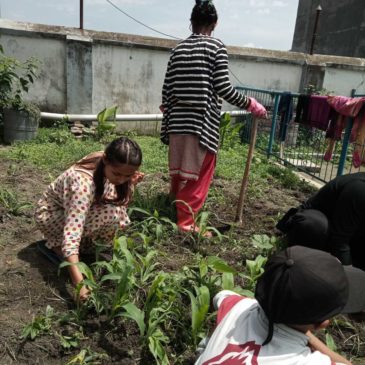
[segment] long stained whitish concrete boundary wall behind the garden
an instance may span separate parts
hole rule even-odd
[[[0,44],[7,55],[41,60],[28,98],[42,111],[95,114],[118,105],[121,114],[147,114],[159,112],[176,42],[1,19]],[[235,86],[300,92],[310,82],[350,95],[365,72],[365,61],[358,58],[243,47],[228,47],[228,53]]]

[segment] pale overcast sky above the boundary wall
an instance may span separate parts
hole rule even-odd
[[[109,0],[140,22],[169,35],[189,36],[193,0]],[[215,0],[214,36],[231,46],[290,50],[298,0]],[[0,0],[1,17],[79,27],[79,0]],[[107,0],[84,0],[84,28],[164,37],[128,18]]]

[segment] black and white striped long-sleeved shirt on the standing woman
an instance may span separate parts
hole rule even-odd
[[[217,153],[221,98],[240,108],[250,105],[249,98],[229,81],[224,44],[192,34],[173,49],[167,65],[162,89],[162,142],[169,143],[170,133],[194,134],[203,147]]]

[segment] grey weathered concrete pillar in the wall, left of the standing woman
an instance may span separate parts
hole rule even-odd
[[[67,113],[91,114],[93,96],[92,39],[66,38]]]

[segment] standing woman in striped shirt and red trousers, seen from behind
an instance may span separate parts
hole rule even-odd
[[[193,34],[172,51],[162,89],[161,140],[169,145],[170,193],[177,200],[181,231],[198,230],[194,216],[205,202],[216,165],[222,99],[266,116],[261,104],[232,87],[226,47],[211,37],[217,20],[211,0],[196,0]]]

